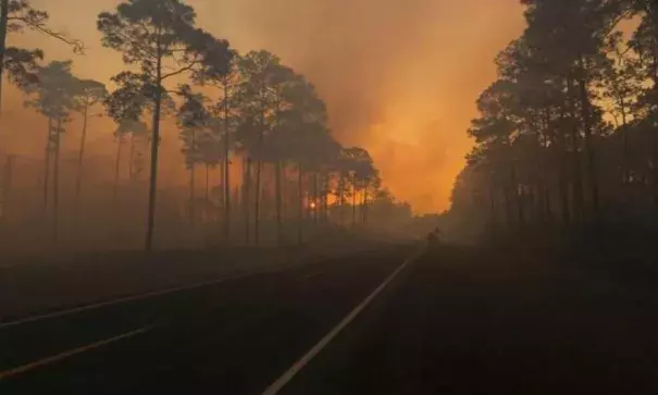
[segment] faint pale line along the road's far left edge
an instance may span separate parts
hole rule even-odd
[[[101,303],[94,304],[94,305],[80,306],[80,307],[76,307],[73,309],[54,311],[54,312],[47,313],[47,314],[28,317],[28,318],[20,319],[16,321],[9,321],[9,322],[4,322],[4,323],[0,322],[0,330],[8,329],[10,326],[18,326],[18,325],[23,325],[23,324],[30,323],[30,322],[47,320],[47,319],[51,319],[51,318],[71,316],[71,314],[75,314],[75,313],[83,312],[83,311],[96,310],[96,309],[99,309],[102,307],[122,305],[122,304],[135,301],[135,300],[150,299],[153,297],[174,294],[177,292],[197,289],[197,288],[201,288],[201,287],[209,286],[209,285],[216,285],[216,284],[225,283],[227,281],[241,280],[241,279],[246,279],[246,277],[250,277],[250,276],[254,276],[254,275],[259,275],[259,274],[275,273],[275,272],[285,271],[285,270],[286,270],[285,268],[284,269],[278,268],[278,269],[260,270],[260,271],[256,271],[256,272],[228,275],[228,276],[225,276],[222,279],[206,281],[206,282],[196,283],[193,285],[182,285],[182,286],[176,286],[176,287],[171,287],[171,288],[165,288],[165,289],[160,289],[160,291],[153,291],[153,292],[146,293],[146,294],[127,296],[127,297],[108,300],[108,301],[101,301]]]

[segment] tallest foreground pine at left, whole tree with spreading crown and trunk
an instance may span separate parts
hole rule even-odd
[[[98,17],[102,44],[123,54],[140,73],[124,72],[137,89],[134,96],[152,103],[151,166],[146,249],[152,249],[158,182],[158,147],[166,83],[185,74],[193,77],[208,69],[226,70],[228,42],[195,27],[195,10],[179,0],[129,0]],[[129,78],[128,78],[129,77]]]

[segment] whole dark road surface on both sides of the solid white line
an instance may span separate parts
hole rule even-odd
[[[384,248],[0,328],[0,371],[27,367],[0,380],[0,394],[658,393],[653,288],[463,248],[401,267],[410,254]],[[29,365],[67,350],[80,351]]]

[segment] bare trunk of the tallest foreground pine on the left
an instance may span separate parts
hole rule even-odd
[[[157,65],[158,89],[156,89],[156,108],[153,109],[153,131],[151,138],[151,176],[149,180],[149,208],[146,231],[146,250],[153,250],[153,233],[156,229],[156,195],[158,193],[158,152],[160,148],[160,111],[162,109],[162,59]]]

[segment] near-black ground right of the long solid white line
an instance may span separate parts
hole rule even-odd
[[[280,394],[658,394],[657,325],[655,288],[447,248],[411,266]]]

